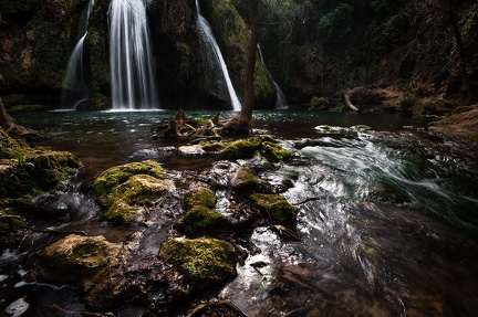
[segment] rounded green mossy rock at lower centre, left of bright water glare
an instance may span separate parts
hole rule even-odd
[[[158,256],[183,272],[197,290],[225,284],[237,275],[236,250],[222,240],[173,239],[162,245]]]

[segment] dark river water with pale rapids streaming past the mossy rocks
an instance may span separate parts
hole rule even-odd
[[[85,166],[79,181],[87,183],[108,167],[146,158],[168,170],[209,168],[217,158],[184,158],[164,150],[178,144],[150,138],[150,128],[172,115],[51,112],[15,119],[51,135],[43,146],[75,154]],[[258,317],[476,316],[476,150],[430,136],[422,129],[426,120],[396,114],[282,110],[254,118],[256,133],[279,137],[294,152],[261,177],[283,187],[298,207],[301,239],[257,228],[251,241],[260,252],[238,266],[218,298]],[[355,125],[371,129],[350,128]],[[21,316],[41,316],[52,303],[83,308],[74,292],[25,284],[19,261],[11,250],[0,255],[0,315],[27,295],[35,299]]]

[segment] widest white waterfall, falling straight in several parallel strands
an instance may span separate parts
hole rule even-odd
[[[143,1],[112,0],[108,14],[113,109],[159,108]]]

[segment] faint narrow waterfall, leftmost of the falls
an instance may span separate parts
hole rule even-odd
[[[66,67],[66,75],[63,80],[63,89],[61,93],[60,108],[75,109],[76,106],[90,99],[90,89],[86,78],[86,70],[83,57],[83,44],[87,35],[90,14],[94,6],[94,0],[90,0],[85,11],[85,17],[81,28],[81,39],[76,43],[70,56]]]

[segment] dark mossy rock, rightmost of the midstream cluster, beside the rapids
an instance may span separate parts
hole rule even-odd
[[[279,194],[254,193],[249,197],[249,201],[251,207],[259,210],[264,216],[288,228],[295,228],[297,210],[283,197]]]

